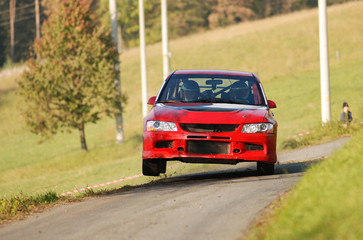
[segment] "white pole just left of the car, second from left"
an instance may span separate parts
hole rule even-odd
[[[146,76],[144,0],[139,0],[139,30],[140,30],[142,115],[143,117],[145,117],[147,115],[147,76]]]

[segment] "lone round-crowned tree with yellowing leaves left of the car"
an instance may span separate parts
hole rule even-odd
[[[95,21],[91,2],[58,3],[19,81],[31,131],[47,138],[59,130],[78,129],[85,151],[85,124],[121,111],[114,86],[118,56],[110,31]]]

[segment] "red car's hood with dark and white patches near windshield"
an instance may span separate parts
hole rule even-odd
[[[241,124],[266,122],[268,108],[226,103],[156,104],[145,120],[178,123]]]

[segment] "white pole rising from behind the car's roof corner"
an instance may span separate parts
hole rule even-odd
[[[163,70],[164,70],[164,79],[166,79],[170,73],[167,0],[161,0],[161,28],[162,28],[162,42],[163,42]]]

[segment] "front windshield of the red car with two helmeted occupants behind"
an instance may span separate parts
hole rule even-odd
[[[262,89],[251,76],[174,74],[158,102],[203,102],[266,105]]]

